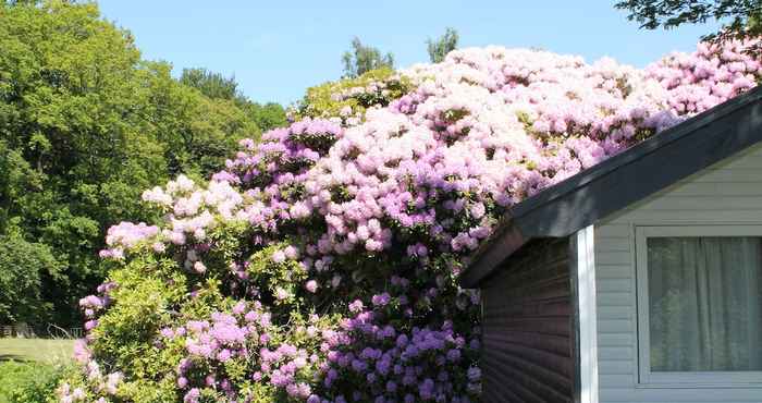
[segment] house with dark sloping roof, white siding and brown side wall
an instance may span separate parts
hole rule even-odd
[[[484,402],[762,402],[762,89],[513,206],[481,290]]]

